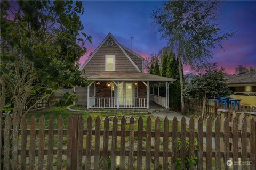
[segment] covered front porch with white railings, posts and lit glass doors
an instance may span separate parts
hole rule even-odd
[[[93,81],[87,87],[87,109],[154,109],[157,105],[158,109],[169,109],[168,87],[173,79],[145,73],[119,72],[89,78]],[[158,95],[154,92],[150,94],[150,87],[155,87],[155,84],[158,84]],[[165,84],[164,97],[159,95],[160,84]]]

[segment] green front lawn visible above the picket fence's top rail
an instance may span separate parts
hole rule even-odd
[[[37,122],[37,128],[38,128],[38,124],[39,124],[39,118],[41,117],[41,115],[44,115],[45,117],[45,125],[46,127],[49,124],[49,117],[52,115],[54,118],[54,126],[55,128],[58,127],[58,118],[61,115],[63,117],[63,122],[64,122],[64,127],[67,128],[67,124],[68,124],[68,117],[73,115],[73,114],[79,114],[82,115],[82,117],[84,118],[84,124],[86,126],[86,122],[87,122],[87,118],[89,116],[92,117],[93,120],[93,124],[92,126],[95,126],[95,119],[99,116],[101,118],[101,129],[103,129],[103,119],[106,116],[133,116],[136,119],[136,122],[134,124],[134,129],[138,130],[138,120],[140,117],[142,117],[143,119],[143,130],[146,130],[146,122],[147,122],[147,118],[150,117],[151,118],[151,126],[152,126],[152,130],[155,130],[155,119],[156,117],[154,117],[152,114],[143,114],[143,113],[133,113],[133,112],[119,112],[119,113],[101,113],[101,112],[83,112],[83,113],[77,113],[77,112],[70,112],[67,111],[66,107],[52,107],[52,108],[47,108],[44,109],[42,111],[36,111],[36,112],[31,112],[27,115],[28,118],[28,125],[30,124],[30,118],[32,115],[35,115],[36,117],[36,122]],[[120,125],[118,125],[119,128]],[[162,118],[160,118],[160,129],[161,131],[163,131],[164,128],[164,120]],[[187,127],[188,128],[188,127]],[[109,124],[109,129],[112,129],[112,124]],[[172,129],[172,121],[169,121],[169,131],[171,131]],[[126,125],[126,130],[129,130],[129,125]],[[180,122],[178,122],[178,130],[180,130]]]

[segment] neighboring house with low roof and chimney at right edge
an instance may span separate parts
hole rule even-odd
[[[256,92],[256,73],[245,67],[236,68],[236,74],[227,75],[228,87],[234,92]]]

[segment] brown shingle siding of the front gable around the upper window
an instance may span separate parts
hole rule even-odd
[[[113,46],[107,46],[107,41],[113,41]],[[115,41],[109,37],[101,46],[97,53],[85,65],[85,77],[105,73],[105,55],[115,55],[115,71],[116,72],[138,72],[135,66],[129,61]]]

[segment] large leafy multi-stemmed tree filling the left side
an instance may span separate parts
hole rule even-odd
[[[17,3],[18,10],[8,1],[1,2],[1,109],[9,88],[12,113],[21,116],[33,96],[43,100],[59,88],[89,83],[81,77],[77,61],[91,36],[81,32],[82,2]]]

